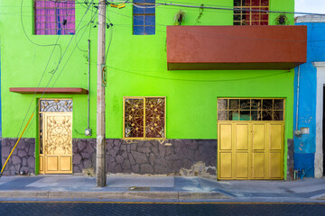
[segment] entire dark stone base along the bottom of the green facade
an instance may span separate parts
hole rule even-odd
[[[2,164],[17,139],[2,139]],[[293,142],[287,140],[287,180],[291,180]],[[73,139],[73,173],[96,167],[96,139]],[[3,175],[35,172],[35,139],[21,139]],[[153,175],[216,175],[217,139],[107,139],[107,173]]]

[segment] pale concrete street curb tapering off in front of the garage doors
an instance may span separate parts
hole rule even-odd
[[[40,199],[114,199],[114,200],[218,200],[231,199],[224,193],[194,192],[69,192],[69,191],[0,191],[1,198]]]

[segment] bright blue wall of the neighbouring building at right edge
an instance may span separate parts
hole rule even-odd
[[[302,134],[298,138],[293,136],[294,169],[308,170],[306,176],[314,176],[314,155],[316,148],[316,86],[317,70],[312,66],[314,61],[325,61],[325,23],[296,23],[307,26],[307,62],[300,66],[300,99],[298,130],[302,127],[310,128],[310,134]],[[297,73],[294,76],[294,120],[296,126],[297,104]]]

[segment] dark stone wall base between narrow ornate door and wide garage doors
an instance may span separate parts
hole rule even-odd
[[[217,139],[107,139],[107,173],[216,175]],[[73,172],[96,167],[96,139],[73,139]]]

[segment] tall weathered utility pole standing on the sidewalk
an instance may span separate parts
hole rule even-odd
[[[106,47],[106,0],[98,1],[98,100],[97,100],[97,155],[96,184],[106,186],[106,136],[105,136],[105,47]]]

